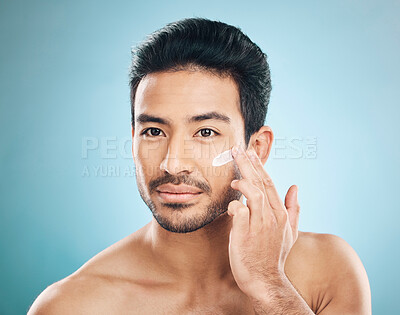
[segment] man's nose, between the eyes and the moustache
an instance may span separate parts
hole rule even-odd
[[[189,150],[185,148],[182,140],[171,142],[167,150],[167,154],[160,164],[161,171],[166,171],[171,175],[193,172],[194,157],[188,154]]]

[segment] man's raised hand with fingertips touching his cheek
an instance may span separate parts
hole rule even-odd
[[[298,188],[289,188],[283,205],[254,149],[238,149],[233,156],[243,179],[232,181],[231,187],[242,192],[247,206],[238,200],[229,203],[229,260],[239,288],[256,296],[285,277],[285,261],[298,236]]]

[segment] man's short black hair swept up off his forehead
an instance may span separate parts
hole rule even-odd
[[[147,74],[203,70],[238,85],[245,143],[263,125],[271,94],[267,55],[240,28],[206,18],[185,18],[151,33],[132,50],[129,71],[132,126],[135,94]]]

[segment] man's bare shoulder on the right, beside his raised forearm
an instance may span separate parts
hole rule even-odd
[[[367,273],[355,250],[343,238],[299,232],[292,251],[288,257],[288,277],[303,286],[316,314],[371,313]]]

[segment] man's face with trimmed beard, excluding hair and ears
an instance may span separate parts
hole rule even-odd
[[[239,106],[239,90],[228,77],[159,72],[139,83],[132,139],[136,178],[142,199],[164,229],[195,231],[240,199],[230,187],[241,178],[236,164],[212,166],[215,156],[244,142]],[[179,192],[191,194],[172,193],[181,184],[190,187]]]

